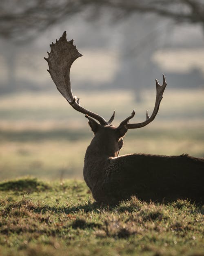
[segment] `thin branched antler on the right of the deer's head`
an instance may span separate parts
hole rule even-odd
[[[119,125],[118,128],[120,128],[121,126],[125,125],[125,127],[127,129],[135,129],[135,128],[141,128],[144,127],[145,125],[148,125],[150,122],[152,122],[155,119],[155,116],[157,115],[157,112],[159,111],[159,107],[160,107],[160,102],[163,98],[163,93],[164,90],[166,88],[166,79],[164,77],[163,74],[163,84],[162,86],[160,86],[160,84],[158,83],[157,79],[156,79],[156,91],[157,91],[157,95],[156,95],[156,100],[155,100],[155,106],[154,106],[154,110],[153,113],[151,115],[151,117],[149,117],[148,115],[148,111],[146,111],[146,120],[144,122],[140,122],[140,123],[135,123],[135,124],[129,124],[129,120],[131,118],[133,118],[133,116],[135,116],[135,110],[133,110],[133,112],[131,113],[131,116],[129,116],[128,118],[126,118],[124,121],[122,121]]]

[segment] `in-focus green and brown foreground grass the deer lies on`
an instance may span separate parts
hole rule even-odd
[[[202,256],[204,207],[95,204],[83,181],[0,183],[2,256]]]

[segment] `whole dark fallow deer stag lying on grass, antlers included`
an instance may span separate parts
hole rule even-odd
[[[152,122],[159,110],[166,87],[156,80],[156,100],[152,115],[146,112],[146,120],[129,123],[131,115],[116,128],[109,121],[80,105],[79,98],[71,91],[69,72],[75,59],[81,57],[73,40],[67,41],[66,32],[50,45],[51,52],[45,58],[49,73],[60,93],[69,104],[88,118],[94,137],[86,150],[84,180],[97,202],[117,203],[132,195],[142,200],[170,202],[177,198],[204,202],[204,159],[188,156],[159,156],[150,154],[127,154],[118,156],[123,145],[122,137],[128,129],[144,127]],[[99,122],[96,122],[96,120]]]

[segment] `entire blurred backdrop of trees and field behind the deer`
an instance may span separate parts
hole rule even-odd
[[[129,130],[120,154],[204,157],[203,0],[1,0],[0,180],[83,177],[93,134],[43,59],[65,30],[83,54],[73,95],[105,119],[115,110],[115,126],[133,109],[144,121],[166,76],[157,117]]]

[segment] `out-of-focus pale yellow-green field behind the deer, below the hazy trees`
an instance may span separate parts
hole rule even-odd
[[[137,102],[131,91],[75,93],[85,108],[113,125],[136,109],[134,122],[151,114],[155,91]],[[133,121],[132,121],[133,122]],[[0,97],[0,180],[31,175],[44,179],[82,179],[86,147],[93,137],[84,115],[57,92],[16,93]],[[204,157],[204,91],[166,88],[155,120],[130,130],[120,154],[183,154]]]

